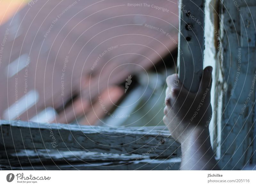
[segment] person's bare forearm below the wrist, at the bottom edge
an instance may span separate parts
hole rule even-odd
[[[197,128],[181,144],[180,170],[219,170],[211,147],[209,130]]]

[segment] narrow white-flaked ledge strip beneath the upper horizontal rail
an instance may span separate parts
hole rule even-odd
[[[0,151],[0,154],[5,154],[5,151]],[[58,151],[58,150],[23,150],[12,153],[7,156],[2,156],[0,165],[3,166],[35,166],[35,165],[58,165],[69,163],[94,163],[94,162],[118,162],[118,161],[134,161],[149,158],[149,156],[140,157],[138,154],[120,155],[107,154],[97,152],[84,151]]]

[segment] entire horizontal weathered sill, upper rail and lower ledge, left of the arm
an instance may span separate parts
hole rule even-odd
[[[2,170],[178,170],[180,166],[180,144],[165,129],[0,122]]]

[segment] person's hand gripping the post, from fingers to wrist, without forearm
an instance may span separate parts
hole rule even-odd
[[[197,93],[188,92],[177,74],[168,76],[166,83],[168,88],[163,120],[172,137],[182,144],[191,133],[204,131],[212,118],[212,67],[204,69]],[[209,132],[208,128],[207,131]]]

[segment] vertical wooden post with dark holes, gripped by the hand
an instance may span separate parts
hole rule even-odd
[[[180,0],[179,53],[180,81],[190,92],[197,92],[204,60],[205,0]]]

